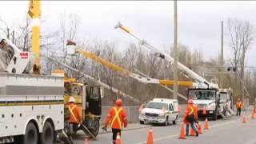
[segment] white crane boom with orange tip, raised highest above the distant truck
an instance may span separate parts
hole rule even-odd
[[[120,28],[121,30],[125,31],[127,34],[130,34],[132,37],[138,39],[138,41],[141,42],[141,44],[143,46],[146,46],[146,48],[148,48],[149,50],[153,51],[154,54],[157,54],[160,58],[164,58],[168,62],[173,64],[174,58],[170,57],[169,54],[162,53],[160,50],[158,50],[154,46],[150,45],[149,42],[146,42],[145,39],[140,38],[137,34],[134,34],[133,32],[131,32],[126,26],[123,26],[120,22],[118,22],[118,24],[115,26],[115,28]],[[215,84],[213,84],[211,82],[208,82],[205,78],[202,78],[200,75],[195,73],[193,70],[190,70],[188,67],[182,65],[182,63],[180,63],[180,62],[178,62],[178,69],[186,72],[186,74],[188,74],[190,76],[190,78],[194,78],[194,80],[196,82],[199,82],[198,84],[200,86],[204,86],[204,87],[209,87],[209,86],[210,87],[218,87],[217,85],[215,85]]]

